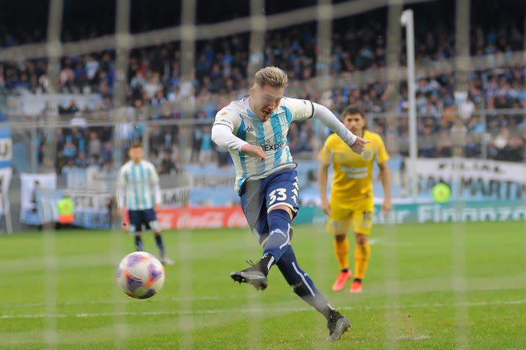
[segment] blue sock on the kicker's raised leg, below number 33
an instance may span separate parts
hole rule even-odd
[[[290,215],[283,209],[275,209],[267,215],[270,234],[265,243],[265,254],[271,254],[278,262],[290,243]]]

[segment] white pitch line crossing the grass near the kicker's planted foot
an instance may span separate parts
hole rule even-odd
[[[461,303],[434,303],[434,304],[407,304],[395,306],[342,306],[338,310],[402,310],[412,308],[451,308],[494,305],[525,305],[522,300],[494,300],[494,301],[467,301]],[[114,316],[181,316],[189,314],[231,314],[231,313],[288,313],[314,311],[312,308],[227,308],[217,310],[193,311],[142,311],[142,312],[79,312],[74,314],[0,314],[3,319],[45,319],[45,318],[85,318],[85,317],[114,317]]]

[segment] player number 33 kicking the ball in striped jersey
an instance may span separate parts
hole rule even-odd
[[[212,140],[229,150],[236,165],[234,187],[247,221],[264,247],[258,262],[230,276],[263,290],[268,271],[277,265],[295,293],[327,319],[329,340],[336,340],[351,324],[316,289],[290,246],[290,224],[298,212],[299,188],[287,133],[291,122],[316,118],[355,152],[362,152],[367,141],[353,135],[326,107],[284,97],[287,82],[283,70],[262,68],[255,73],[249,96],[218,111],[212,127]]]

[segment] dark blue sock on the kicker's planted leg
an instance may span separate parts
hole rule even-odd
[[[292,291],[328,320],[331,314],[335,312],[334,308],[314,286],[309,275],[299,267],[296,254],[290,245],[287,245],[286,252],[276,265],[287,283],[292,287]]]

